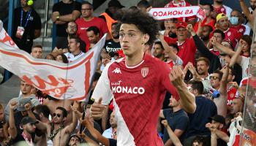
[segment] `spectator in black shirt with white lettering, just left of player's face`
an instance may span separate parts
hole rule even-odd
[[[113,57],[114,53],[117,53],[118,50],[121,50],[120,41],[119,41],[119,28],[120,28],[120,25],[118,23],[113,23],[112,29],[111,29],[111,35],[113,39],[110,39],[105,42],[103,52],[105,54],[108,53],[110,57]]]

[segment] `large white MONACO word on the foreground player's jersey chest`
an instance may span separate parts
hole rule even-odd
[[[112,86],[113,93],[134,93],[142,95],[145,93],[145,89],[143,87],[127,87],[127,86]]]

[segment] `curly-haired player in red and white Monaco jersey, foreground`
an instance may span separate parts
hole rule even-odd
[[[139,10],[127,10],[117,17],[119,39],[125,57],[105,67],[91,96],[91,116],[101,118],[113,98],[117,121],[117,145],[163,145],[157,134],[157,120],[166,91],[185,111],[195,112],[195,96],[184,83],[181,68],[172,71],[157,58],[143,52],[158,33],[157,21]]]

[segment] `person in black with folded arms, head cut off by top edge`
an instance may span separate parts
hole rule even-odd
[[[67,48],[67,23],[75,21],[80,16],[81,4],[78,1],[62,0],[53,5],[51,19],[56,24],[56,47]]]

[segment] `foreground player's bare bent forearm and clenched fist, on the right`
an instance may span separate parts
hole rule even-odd
[[[170,81],[177,89],[181,106],[186,112],[194,113],[196,109],[195,96],[189,92],[186,83],[184,82],[184,73],[180,66],[173,66],[170,72]],[[173,95],[174,97],[178,95]],[[177,98],[177,97],[176,97]]]

